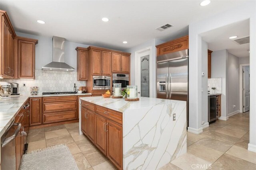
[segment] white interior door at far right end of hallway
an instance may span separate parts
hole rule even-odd
[[[250,109],[250,67],[243,67],[243,105],[244,112]]]

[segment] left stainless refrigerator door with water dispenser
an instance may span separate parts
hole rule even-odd
[[[160,99],[168,99],[168,78],[169,78],[168,61],[157,63],[156,75],[156,95]]]

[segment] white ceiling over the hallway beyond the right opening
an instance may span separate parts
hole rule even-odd
[[[227,49],[229,53],[237,57],[248,57],[250,55],[248,52],[250,43],[239,45],[229,39],[235,35],[238,36],[236,39],[250,35],[249,19],[201,34],[202,39],[208,43],[208,49],[212,51]]]

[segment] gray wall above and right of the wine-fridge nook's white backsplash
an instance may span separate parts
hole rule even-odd
[[[222,78],[222,95],[221,95],[221,115],[226,117],[226,104],[228,103],[227,96],[228,91],[226,90],[226,64],[228,60],[228,51],[219,50],[212,52],[212,78]]]

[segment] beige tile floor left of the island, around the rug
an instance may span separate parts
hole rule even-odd
[[[87,137],[79,135],[78,123],[29,130],[27,152],[59,144],[68,146],[79,170],[116,170]]]

